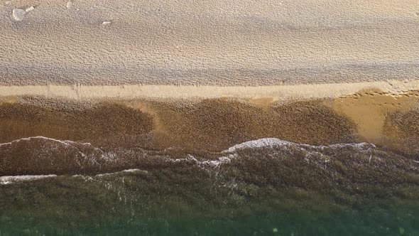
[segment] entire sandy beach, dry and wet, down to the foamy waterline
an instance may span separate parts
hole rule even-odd
[[[417,156],[418,7],[1,0],[0,141],[222,150],[276,137]]]

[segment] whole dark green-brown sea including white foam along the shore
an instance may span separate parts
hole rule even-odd
[[[33,137],[0,158],[0,235],[419,234],[419,163],[372,144],[187,153]]]

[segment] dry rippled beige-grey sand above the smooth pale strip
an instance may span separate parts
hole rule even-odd
[[[13,9],[31,11],[16,21]],[[417,0],[1,0],[0,85],[417,80],[418,11]]]

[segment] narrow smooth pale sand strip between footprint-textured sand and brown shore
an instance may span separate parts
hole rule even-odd
[[[315,99],[352,95],[360,90],[376,89],[397,96],[409,90],[419,90],[419,80],[354,82],[311,85],[276,85],[259,87],[215,87],[173,85],[26,85],[0,86],[0,96],[46,96],[70,99],[94,98],[215,98],[215,97],[275,97],[281,100]]]

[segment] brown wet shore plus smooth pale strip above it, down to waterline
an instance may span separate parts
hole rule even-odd
[[[0,142],[45,136],[99,147],[221,151],[276,137],[313,145],[366,141],[417,159],[417,86],[411,81],[135,86],[138,91],[134,86],[15,87],[1,90],[9,96],[0,104]],[[40,96],[45,91],[50,92]]]

